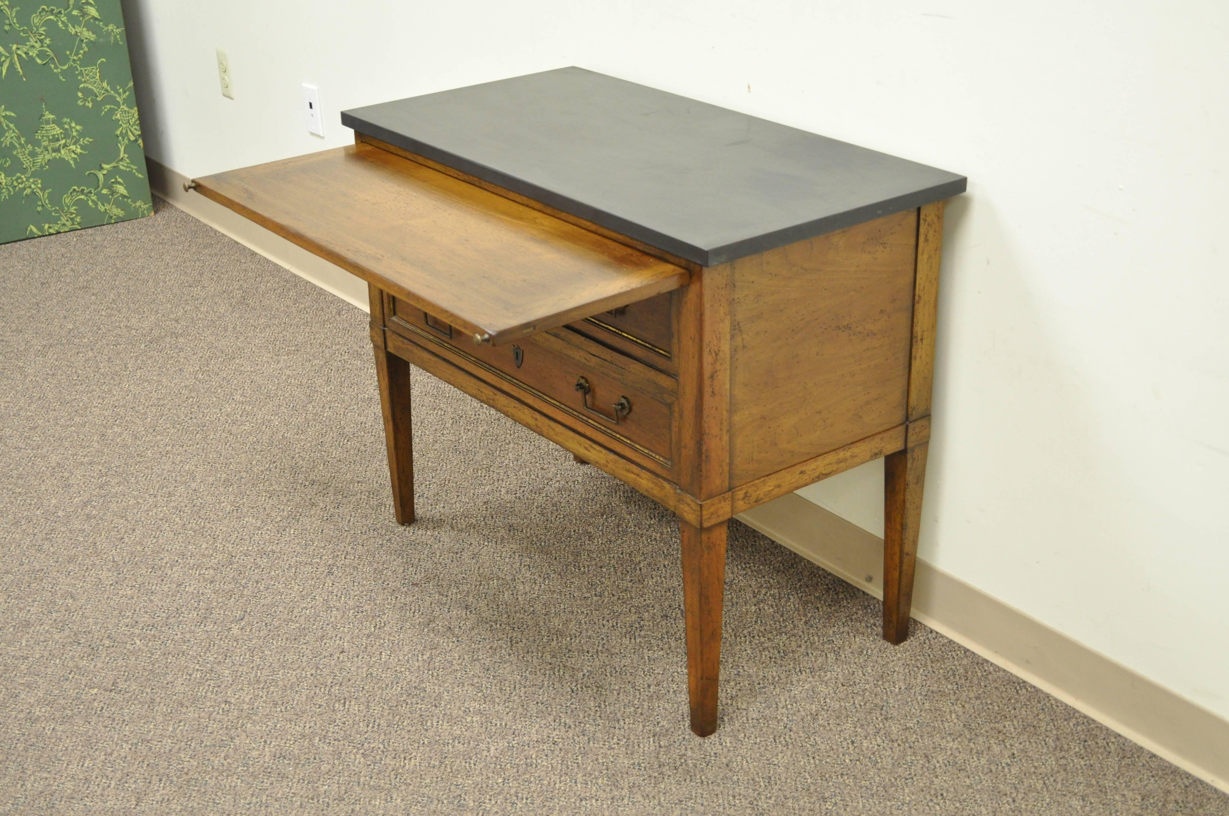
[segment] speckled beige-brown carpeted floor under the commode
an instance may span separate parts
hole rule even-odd
[[[735,524],[721,729],[676,527],[183,213],[0,247],[0,812],[1229,814]]]

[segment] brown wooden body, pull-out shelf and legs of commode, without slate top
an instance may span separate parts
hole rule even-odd
[[[707,736],[729,520],[885,457],[884,637],[907,637],[941,202],[702,268],[356,140],[198,190],[371,283],[398,522],[414,519],[410,364],[672,510],[691,728]]]

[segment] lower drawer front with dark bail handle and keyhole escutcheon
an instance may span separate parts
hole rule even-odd
[[[569,342],[564,329],[511,344],[474,345],[462,332],[404,301],[392,301],[388,326],[419,345],[434,342],[476,364],[493,385],[522,388],[589,431],[618,440],[650,460],[671,466],[676,383],[651,369]],[[407,331],[408,329],[408,331]],[[597,354],[595,354],[597,351]],[[505,385],[500,385],[503,381]],[[576,423],[573,423],[574,425]]]

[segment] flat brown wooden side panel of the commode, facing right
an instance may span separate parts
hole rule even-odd
[[[905,422],[917,210],[735,261],[731,477]]]

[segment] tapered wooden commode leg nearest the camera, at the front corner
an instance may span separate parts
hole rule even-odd
[[[725,595],[726,522],[693,527],[680,521],[683,611],[687,624],[687,694],[698,736],[717,730],[717,681],[721,667],[721,600]]]

